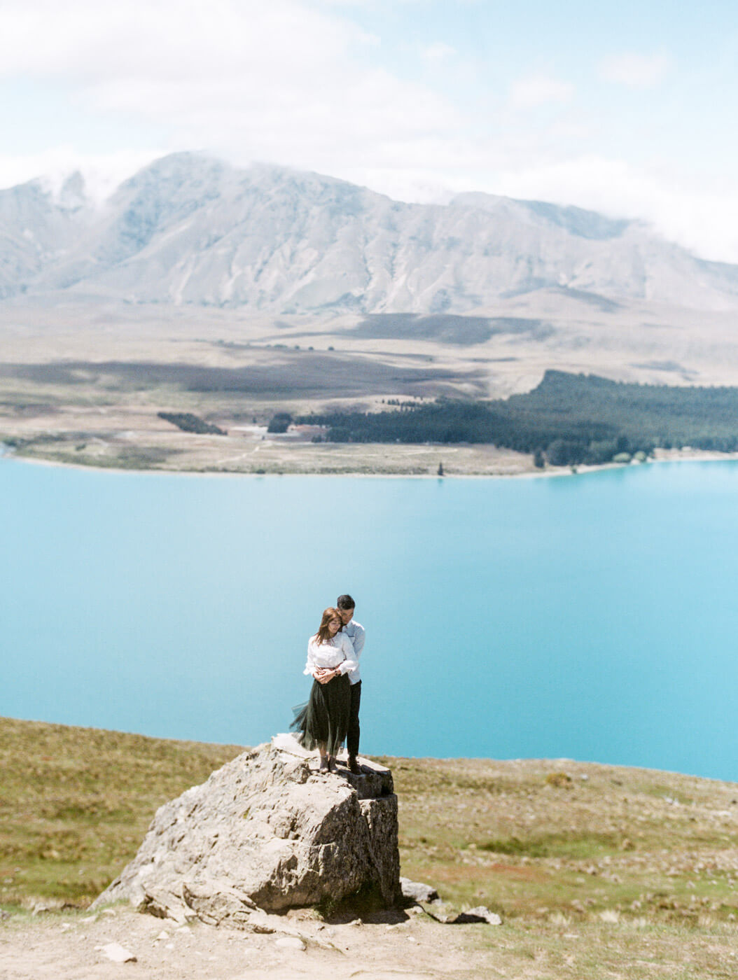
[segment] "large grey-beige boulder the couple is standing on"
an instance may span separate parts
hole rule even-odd
[[[245,752],[160,808],[136,857],[96,900],[179,921],[258,928],[279,911],[373,891],[400,898],[389,769],[318,774],[290,735]]]

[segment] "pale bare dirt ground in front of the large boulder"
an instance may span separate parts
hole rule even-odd
[[[499,975],[479,930],[405,921],[327,925],[311,913],[271,916],[280,931],[255,934],[169,920],[116,907],[12,918],[0,925],[3,980],[433,980]],[[474,934],[474,930],[476,933]],[[135,961],[115,962],[118,943]],[[486,945],[486,944],[482,944]]]

